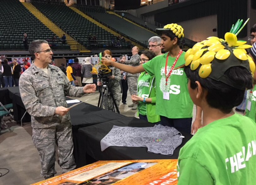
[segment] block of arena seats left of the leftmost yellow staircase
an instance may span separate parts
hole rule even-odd
[[[70,49],[18,0],[1,1],[0,9],[0,50],[23,50],[24,33],[30,42],[44,39],[49,41],[52,49]],[[56,39],[53,41],[54,36]]]

